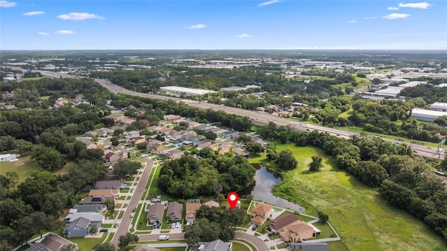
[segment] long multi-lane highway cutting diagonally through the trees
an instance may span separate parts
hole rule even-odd
[[[9,67],[11,69],[17,69],[17,70],[23,70],[17,67]],[[40,71],[40,70],[39,70]],[[80,76],[73,76],[66,73],[58,73],[53,71],[40,71],[43,76],[47,76],[50,78],[84,78]],[[107,80],[102,79],[94,79],[96,83],[99,83],[106,89],[108,89],[110,92],[113,92],[115,94],[122,93],[122,94],[129,94],[133,96],[142,96],[147,97],[151,99],[162,99],[162,100],[174,100],[174,101],[182,101],[189,106],[197,107],[197,108],[203,108],[203,109],[213,109],[213,110],[222,110],[226,113],[230,114],[237,114],[237,115],[245,115],[249,117],[251,120],[253,120],[254,124],[268,124],[270,121],[276,122],[278,126],[291,126],[293,129],[298,131],[320,131],[320,132],[327,132],[332,136],[337,136],[341,138],[349,138],[353,135],[360,135],[358,133],[352,132],[352,131],[344,131],[339,129],[334,129],[330,127],[322,127],[315,124],[307,124],[304,122],[294,122],[291,120],[287,120],[283,117],[277,117],[276,115],[272,115],[270,113],[261,113],[258,111],[253,110],[244,110],[240,108],[233,108],[229,106],[221,106],[214,103],[206,103],[206,102],[200,102],[200,101],[193,101],[189,99],[180,99],[172,96],[161,96],[161,95],[155,95],[155,94],[145,94],[140,92],[133,92],[129,89],[124,89],[122,87],[119,87],[118,85],[114,85],[110,83]],[[382,138],[384,141],[389,141],[391,143],[400,144],[401,141],[395,141],[391,140],[389,138]],[[437,154],[437,148],[429,148],[424,145],[418,145],[414,143],[406,143],[407,145],[411,145],[411,148],[413,148],[413,154],[419,155],[423,157],[428,157],[432,159],[438,159],[439,155]],[[444,152],[440,156],[441,159],[444,159]]]

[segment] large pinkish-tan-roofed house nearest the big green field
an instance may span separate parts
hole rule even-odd
[[[286,243],[299,243],[320,235],[321,231],[311,224],[297,220],[286,225],[281,229],[277,229],[279,237]]]

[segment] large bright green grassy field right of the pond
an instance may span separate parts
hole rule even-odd
[[[284,148],[292,150],[299,164],[283,173],[284,182],[274,187],[274,194],[300,203],[309,215],[317,215],[317,210],[327,213],[342,237],[343,245],[335,250],[447,250],[442,238],[423,222],[335,168],[332,157],[322,150],[277,144],[277,151]],[[314,155],[323,156],[323,168],[316,173],[308,167]]]

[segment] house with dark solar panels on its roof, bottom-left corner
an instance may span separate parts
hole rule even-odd
[[[70,251],[78,251],[78,244],[72,243],[68,241],[66,238],[62,238],[57,234],[50,232],[47,236],[43,238],[43,240],[36,242],[31,245],[31,248],[28,248],[25,251],[61,251],[71,247]]]

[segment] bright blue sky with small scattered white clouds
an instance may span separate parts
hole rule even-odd
[[[447,1],[5,1],[1,50],[447,50]]]

